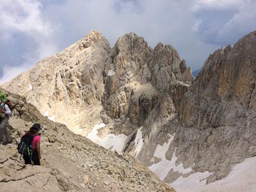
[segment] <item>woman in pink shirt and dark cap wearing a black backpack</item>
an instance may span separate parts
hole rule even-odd
[[[38,134],[38,131],[41,130],[40,124],[34,124],[24,136],[21,138],[21,145],[22,141],[25,141],[25,149],[22,150],[23,159],[25,164],[32,164],[33,161],[34,165],[40,165],[41,159],[41,152],[40,152],[40,141],[41,137]],[[19,150],[19,147],[18,147]],[[24,150],[26,150],[24,152]]]

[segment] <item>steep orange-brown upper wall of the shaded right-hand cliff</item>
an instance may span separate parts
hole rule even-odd
[[[220,99],[234,102],[238,108],[255,108],[255,33],[244,36],[234,47],[228,45],[209,56],[191,90],[199,88],[195,92],[208,101]]]

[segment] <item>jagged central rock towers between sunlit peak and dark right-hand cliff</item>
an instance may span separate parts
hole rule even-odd
[[[132,124],[138,126],[143,125],[150,111],[160,105],[170,83],[178,79],[193,80],[191,70],[189,77],[186,62],[180,61],[172,46],[159,43],[151,49],[134,33],[118,39],[106,61],[104,74],[102,102],[107,115],[123,121],[130,118]]]

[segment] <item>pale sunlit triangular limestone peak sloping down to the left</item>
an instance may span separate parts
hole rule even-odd
[[[42,114],[76,132],[100,119],[102,74],[109,51],[106,38],[92,31],[3,88],[27,97]]]

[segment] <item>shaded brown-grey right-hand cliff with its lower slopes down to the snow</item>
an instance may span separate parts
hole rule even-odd
[[[207,182],[213,182],[225,177],[232,165],[255,156],[255,52],[256,32],[252,32],[234,47],[228,45],[211,54],[191,86],[172,83],[173,118],[152,129],[157,134],[144,130],[138,158],[151,166],[157,145],[172,138],[165,155],[170,164],[175,159],[176,166],[170,167],[164,180],[210,172]]]

